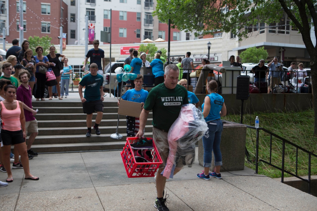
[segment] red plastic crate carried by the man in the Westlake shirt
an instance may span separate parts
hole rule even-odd
[[[151,138],[147,138],[148,140]],[[153,149],[151,149],[151,155],[153,157],[153,162],[149,163],[137,163],[134,158],[133,149],[130,144],[139,141],[139,138],[128,137],[126,138],[126,145],[123,147],[121,154],[124,167],[126,169],[126,174],[129,178],[132,177],[153,177],[159,165],[163,163],[159,152],[153,141]]]

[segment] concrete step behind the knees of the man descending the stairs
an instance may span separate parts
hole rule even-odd
[[[97,116],[97,113],[93,114],[93,119],[95,119]],[[152,118],[152,114],[149,114],[149,118]],[[102,119],[116,119],[118,118],[118,113],[106,113],[104,112],[102,115]],[[122,116],[120,118],[125,118],[125,116]],[[37,120],[56,120],[56,121],[61,121],[61,120],[82,120],[86,119],[86,114],[84,113],[39,113],[36,114],[36,119]]]

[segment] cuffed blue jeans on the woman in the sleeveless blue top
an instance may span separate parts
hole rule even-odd
[[[208,125],[208,135],[206,138],[203,136],[203,146],[204,146],[204,167],[211,167],[211,152],[214,151],[215,166],[222,165],[222,157],[220,151],[220,141],[221,133],[223,130],[223,123],[221,119],[212,120],[207,122]]]

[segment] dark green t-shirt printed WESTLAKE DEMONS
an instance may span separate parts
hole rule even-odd
[[[178,118],[183,104],[188,104],[187,90],[184,86],[177,85],[174,89],[169,89],[161,83],[149,92],[144,109],[152,110],[154,127],[168,131]]]

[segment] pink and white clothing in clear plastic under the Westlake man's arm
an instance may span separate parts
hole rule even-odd
[[[168,131],[169,155],[161,173],[173,178],[176,164],[182,162],[191,167],[195,159],[195,143],[208,131],[203,113],[193,104],[184,104]]]

